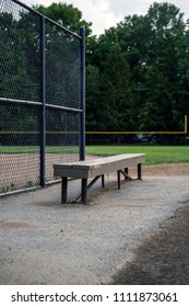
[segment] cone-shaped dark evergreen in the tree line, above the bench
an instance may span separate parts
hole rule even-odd
[[[105,130],[132,129],[134,102],[130,69],[119,44],[113,44],[106,59],[101,86],[102,124]]]

